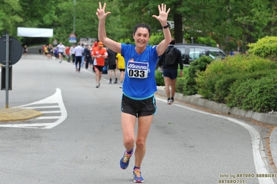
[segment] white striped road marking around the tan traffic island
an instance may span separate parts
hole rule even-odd
[[[28,107],[34,104],[57,104],[58,106],[40,106],[40,107]],[[49,123],[29,123],[29,124],[5,124],[0,125],[0,127],[17,127],[17,128],[34,128],[34,129],[51,129],[53,127],[56,127],[61,122],[63,122],[67,118],[67,110],[65,109],[65,104],[62,101],[62,93],[60,89],[56,89],[56,93],[49,96],[48,98],[45,98],[43,100],[33,102],[31,104],[25,104],[19,107],[15,108],[23,108],[23,109],[50,109],[50,108],[59,108],[60,111],[41,111],[41,113],[60,113],[60,116],[41,116],[36,118],[37,120],[56,120],[55,122],[49,122]]]

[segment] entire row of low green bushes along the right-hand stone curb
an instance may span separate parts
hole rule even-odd
[[[176,82],[177,93],[199,94],[228,107],[260,113],[277,111],[277,62],[251,53],[223,60],[203,56],[183,71]],[[156,82],[165,85],[158,70]]]

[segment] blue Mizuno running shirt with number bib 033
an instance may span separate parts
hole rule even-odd
[[[156,46],[146,46],[138,54],[135,45],[121,44],[121,55],[125,59],[125,77],[123,93],[137,100],[149,98],[157,91],[155,80],[158,53]]]

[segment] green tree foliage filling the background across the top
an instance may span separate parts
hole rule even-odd
[[[163,39],[158,15],[160,1],[107,0],[106,19],[108,37],[117,42],[133,42],[133,27],[138,23],[151,26],[151,44]],[[276,35],[275,0],[165,0],[171,8],[168,21],[172,37],[177,43],[197,42],[210,37],[224,50],[246,49],[247,44],[261,37]],[[90,0],[2,0],[0,2],[0,33],[16,37],[17,27],[53,28],[53,38],[43,42],[69,44],[75,32],[80,37],[97,38],[98,1]],[[41,44],[41,39],[17,37],[22,44]],[[47,44],[47,43],[45,43]]]

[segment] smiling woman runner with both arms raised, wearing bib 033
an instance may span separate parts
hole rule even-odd
[[[156,18],[165,36],[159,44],[149,46],[151,28],[147,24],[137,24],[133,30],[135,44],[122,44],[115,42],[106,35],[105,20],[110,12],[105,12],[106,3],[99,2],[96,15],[99,19],[98,38],[110,50],[121,53],[124,57],[126,68],[121,98],[121,129],[123,134],[124,154],[119,160],[121,169],[126,169],[130,158],[135,154],[133,165],[133,182],[142,183],[141,167],[146,153],[146,138],[156,113],[156,101],[154,93],[157,91],[155,80],[155,68],[158,57],[165,53],[165,49],[171,42],[171,33],[167,17],[170,8],[165,4],[158,5],[159,15],[152,15]],[[108,54],[110,57],[110,54]],[[117,57],[118,58],[118,57]],[[137,128],[136,128],[137,124]],[[137,131],[137,132],[135,132]]]

